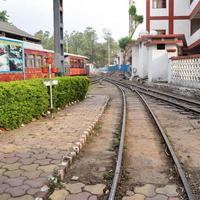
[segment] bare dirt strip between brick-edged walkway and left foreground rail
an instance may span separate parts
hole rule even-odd
[[[120,123],[121,96],[117,88],[105,82],[91,86],[89,94],[109,95],[110,101],[94,129],[93,136],[80,153],[79,159],[71,166],[65,183],[76,183],[77,181],[72,181],[71,178],[77,176],[78,182],[83,184],[103,183],[108,186],[109,174],[113,171],[113,159],[116,156],[112,141]],[[110,178],[112,179],[112,176]],[[98,198],[105,199],[106,195]]]

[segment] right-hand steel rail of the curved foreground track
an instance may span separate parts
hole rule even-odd
[[[184,172],[184,170],[183,170],[183,168],[182,168],[182,166],[181,166],[181,164],[180,164],[180,162],[179,162],[179,160],[178,160],[178,158],[176,156],[176,153],[175,153],[172,145],[169,142],[169,139],[168,139],[167,135],[165,134],[165,131],[161,127],[161,125],[160,125],[160,123],[158,121],[158,118],[156,117],[156,115],[152,111],[152,109],[151,109],[150,105],[147,103],[146,99],[140,94],[140,92],[137,91],[137,90],[132,90],[132,91],[135,91],[137,93],[137,95],[140,97],[140,99],[142,100],[142,102],[146,106],[147,110],[151,114],[151,116],[152,116],[152,118],[153,118],[153,120],[154,120],[154,122],[155,122],[155,124],[156,124],[156,126],[157,126],[157,128],[158,128],[158,130],[159,130],[159,132],[160,132],[160,134],[162,136],[162,138],[164,139],[165,144],[167,145],[169,153],[170,153],[170,155],[171,155],[171,157],[172,157],[172,159],[174,161],[174,164],[176,165],[178,174],[179,174],[180,179],[181,179],[181,181],[183,183],[185,192],[186,192],[189,200],[195,200],[195,197],[194,197],[194,195],[192,193],[191,187],[190,187],[190,185],[188,183],[188,180],[187,180],[187,178],[185,176],[185,172]]]

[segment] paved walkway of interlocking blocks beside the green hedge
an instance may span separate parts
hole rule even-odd
[[[32,200],[48,176],[61,163],[102,111],[104,95],[85,101],[56,114],[0,135],[0,199]]]

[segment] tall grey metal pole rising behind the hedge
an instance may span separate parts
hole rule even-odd
[[[63,0],[53,0],[55,66],[64,74]]]

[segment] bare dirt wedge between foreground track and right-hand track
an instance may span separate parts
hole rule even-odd
[[[196,199],[200,199],[200,116],[148,100],[187,172]]]

